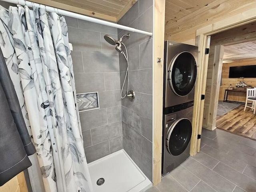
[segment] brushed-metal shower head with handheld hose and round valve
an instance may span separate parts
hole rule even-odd
[[[111,45],[115,45],[116,46],[116,50],[118,52],[120,52],[121,54],[123,54],[123,56],[124,56],[124,58],[125,58],[125,60],[127,62],[126,74],[125,74],[124,83],[123,83],[122,90],[121,90],[121,98],[123,99],[125,97],[128,97],[130,99],[130,101],[134,101],[135,92],[134,92],[134,90],[129,90],[129,86],[130,86],[130,84],[129,84],[129,59],[128,59],[127,48],[126,48],[125,44],[122,42],[124,37],[129,38],[130,34],[124,34],[121,38],[119,38],[119,40],[115,40],[110,35],[104,35],[104,39],[106,40],[106,42],[108,42]],[[122,50],[122,46],[124,46],[126,54]],[[127,79],[126,94],[125,94],[125,96],[122,96],[123,95],[123,90],[124,90],[124,84],[126,82],[126,79]]]

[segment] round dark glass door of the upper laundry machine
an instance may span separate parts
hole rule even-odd
[[[196,60],[187,51],[174,57],[168,70],[168,80],[172,91],[178,96],[188,95],[196,82]]]

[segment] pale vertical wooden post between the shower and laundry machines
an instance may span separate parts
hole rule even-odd
[[[153,185],[161,182],[165,0],[154,0],[153,33]],[[160,59],[158,59],[160,58]]]

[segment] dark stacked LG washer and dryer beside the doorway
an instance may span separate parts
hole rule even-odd
[[[164,42],[162,175],[190,156],[198,47]]]

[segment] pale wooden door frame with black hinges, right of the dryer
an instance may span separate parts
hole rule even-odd
[[[210,47],[210,36],[255,21],[256,8],[252,8],[196,30],[196,45],[198,46],[198,76],[195,87],[192,121],[193,132],[190,145],[190,155],[192,156],[200,150],[201,139],[198,138],[198,135],[201,135],[202,133],[202,118],[204,113],[204,100],[201,100],[201,96],[205,95],[209,57],[205,54],[205,49]]]

